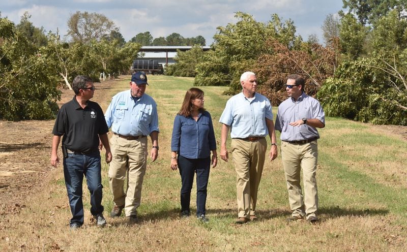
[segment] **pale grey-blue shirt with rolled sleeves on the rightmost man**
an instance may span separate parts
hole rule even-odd
[[[316,99],[307,96],[305,92],[301,94],[297,101],[289,97],[278,106],[275,129],[281,132],[281,140],[291,142],[319,138],[318,131],[314,127],[307,124],[300,126],[289,125],[290,122],[302,118],[316,118],[325,125],[325,113],[321,104]]]

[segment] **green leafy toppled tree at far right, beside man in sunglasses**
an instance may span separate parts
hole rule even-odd
[[[400,78],[391,72],[405,69],[404,60],[394,57],[394,66],[378,57],[346,61],[335,78],[324,83],[317,98],[329,116],[407,125],[407,85],[403,81],[406,73],[398,72],[403,77]]]

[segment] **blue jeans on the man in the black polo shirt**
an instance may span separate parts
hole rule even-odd
[[[86,183],[91,193],[92,215],[98,215],[103,212],[103,206],[101,205],[103,186],[100,171],[100,153],[98,151],[88,155],[68,153],[68,157],[64,157],[65,185],[72,212],[70,224],[83,225],[83,175],[86,177]]]

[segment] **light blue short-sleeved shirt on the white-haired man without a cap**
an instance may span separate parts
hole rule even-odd
[[[266,118],[273,120],[269,99],[259,93],[247,99],[242,91],[226,102],[219,122],[230,126],[231,138],[266,137]]]

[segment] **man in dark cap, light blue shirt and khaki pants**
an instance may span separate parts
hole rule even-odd
[[[141,200],[141,187],[147,168],[147,136],[153,143],[151,160],[158,156],[157,104],[146,91],[147,76],[136,72],[131,77],[130,90],[116,94],[106,110],[107,126],[113,133],[110,138],[112,161],[109,167],[109,184],[114,207],[111,217],[125,209],[129,223],[137,223],[137,207]],[[128,187],[124,181],[128,174]]]

